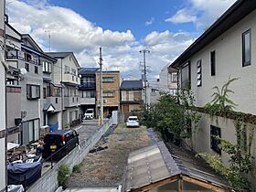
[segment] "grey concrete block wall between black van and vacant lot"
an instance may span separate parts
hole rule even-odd
[[[47,191],[54,192],[58,187],[58,170],[60,165],[69,165],[70,170],[74,165],[79,165],[84,157],[89,153],[91,148],[98,143],[101,139],[103,133],[105,133],[109,127],[112,125],[112,120],[108,123],[103,124],[103,126],[94,133],[90,139],[83,141],[80,144],[80,148],[76,147],[69,155],[66,155],[62,158],[57,165],[54,165],[52,169],[49,169],[37,182],[28,188],[28,192],[37,192],[37,191]]]

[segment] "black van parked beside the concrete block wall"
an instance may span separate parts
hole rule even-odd
[[[47,133],[44,138],[43,158],[58,161],[79,144],[79,133],[75,130],[58,130]],[[52,155],[50,157],[50,155]]]

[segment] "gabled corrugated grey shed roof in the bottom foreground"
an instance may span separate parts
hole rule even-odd
[[[155,187],[155,183],[165,180],[171,183],[178,178],[189,178],[187,180],[191,179],[191,182],[194,179],[210,187],[231,191],[229,183],[201,158],[174,145],[170,145],[168,149],[163,142],[144,147],[129,155],[123,176],[123,191],[140,191],[143,187],[149,190],[150,185]]]

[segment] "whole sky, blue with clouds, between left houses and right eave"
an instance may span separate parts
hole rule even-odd
[[[44,50],[73,51],[81,67],[120,70],[140,79],[147,48],[148,78],[156,80],[235,0],[6,0],[9,23]]]

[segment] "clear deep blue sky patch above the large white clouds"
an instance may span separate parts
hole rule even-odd
[[[103,29],[126,31],[131,29],[137,39],[143,39],[152,31],[195,32],[192,23],[172,24],[167,17],[186,5],[182,0],[51,0],[49,3],[68,7],[85,16]],[[153,19],[152,25],[145,22]]]

